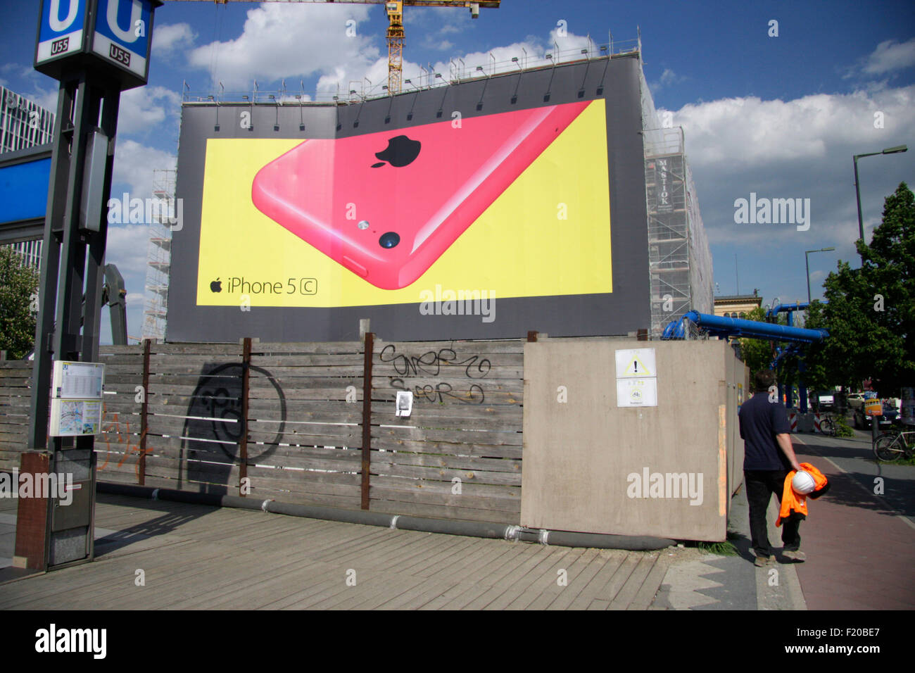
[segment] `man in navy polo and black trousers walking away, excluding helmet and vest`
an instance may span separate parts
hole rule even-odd
[[[788,414],[775,392],[775,373],[757,372],[754,377],[755,395],[740,406],[740,437],[744,440],[744,484],[749,504],[749,529],[754,564],[765,566],[774,560],[769,544],[766,513],[772,494],[781,503],[785,477],[791,470],[800,470],[791,446],[791,427]],[[801,548],[799,529],[801,521],[786,519],[781,523],[782,551],[786,559],[800,562],[805,559]]]

